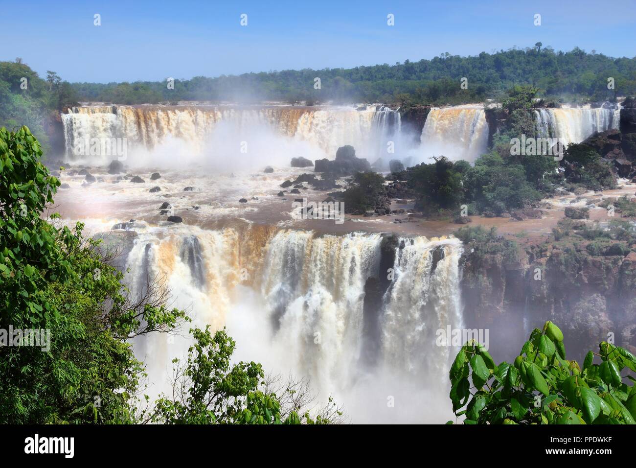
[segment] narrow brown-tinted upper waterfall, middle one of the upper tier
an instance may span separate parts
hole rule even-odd
[[[433,108],[422,129],[420,160],[432,156],[473,162],[488,146],[488,122],[483,108],[456,106]]]

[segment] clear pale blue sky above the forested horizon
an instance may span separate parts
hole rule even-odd
[[[53,70],[70,82],[107,83],[394,64],[537,41],[636,55],[635,0],[268,3],[3,0],[0,60],[22,57],[41,76]]]

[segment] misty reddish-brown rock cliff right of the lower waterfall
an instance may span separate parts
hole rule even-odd
[[[509,243],[470,243],[460,260],[466,327],[490,330],[492,355],[514,359],[547,320],[563,330],[570,359],[581,362],[610,332],[618,346],[636,351],[635,252],[590,255],[581,245]]]

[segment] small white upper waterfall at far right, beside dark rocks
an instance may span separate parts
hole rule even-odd
[[[619,111],[613,109],[537,109],[534,111],[537,138],[560,138],[565,145],[581,143],[595,132],[618,129]]]

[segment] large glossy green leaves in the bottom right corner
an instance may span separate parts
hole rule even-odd
[[[598,347],[583,368],[566,360],[563,334],[552,322],[532,331],[513,364],[495,365],[470,341],[450,369],[453,411],[465,424],[635,424],[636,386],[623,379],[636,379],[621,372],[636,372],[636,358],[605,341]]]

